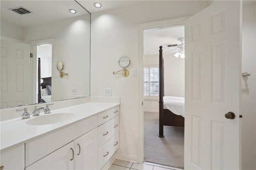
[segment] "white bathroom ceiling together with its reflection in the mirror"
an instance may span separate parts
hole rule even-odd
[[[102,12],[122,6],[138,4],[137,0],[77,0],[90,13]],[[102,8],[94,7],[94,3],[99,2]],[[12,24],[29,27],[58,22],[77,16],[88,14],[75,0],[0,0],[1,20],[6,20]],[[9,10],[10,8],[24,7],[32,13],[20,15]],[[71,14],[68,10],[74,9],[76,14]]]

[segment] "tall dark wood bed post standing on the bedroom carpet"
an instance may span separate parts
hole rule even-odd
[[[163,101],[163,50],[162,46],[159,49],[159,135],[164,138],[164,101]]]

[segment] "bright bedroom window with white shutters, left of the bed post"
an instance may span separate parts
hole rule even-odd
[[[144,96],[154,99],[159,93],[159,68],[158,66],[144,67]],[[155,96],[155,97],[154,97]]]

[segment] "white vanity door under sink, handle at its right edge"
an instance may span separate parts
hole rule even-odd
[[[25,170],[74,170],[75,153],[73,146],[74,143],[70,142],[26,167]]]

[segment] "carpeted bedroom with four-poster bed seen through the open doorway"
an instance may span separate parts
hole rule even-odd
[[[184,169],[184,26],[144,30],[143,39],[144,162]]]

